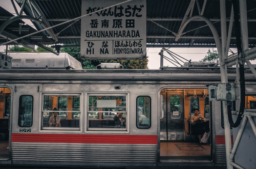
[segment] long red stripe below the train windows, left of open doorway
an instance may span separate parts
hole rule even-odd
[[[157,135],[12,134],[12,142],[157,144]]]

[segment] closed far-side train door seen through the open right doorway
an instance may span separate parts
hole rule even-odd
[[[160,119],[161,140],[184,140],[183,89],[164,89],[163,118]]]

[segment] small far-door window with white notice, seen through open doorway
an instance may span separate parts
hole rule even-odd
[[[180,95],[170,96],[170,118],[180,118]]]

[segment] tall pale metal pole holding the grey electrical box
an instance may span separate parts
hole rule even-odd
[[[227,67],[224,63],[224,59],[227,58],[225,56],[226,51],[226,43],[227,43],[227,29],[226,29],[226,3],[225,0],[220,1],[220,14],[221,14],[221,42],[222,42],[222,55],[219,55],[220,63],[221,63],[221,83],[228,83],[227,81]],[[227,169],[233,168],[231,165],[231,160],[229,158],[231,152],[231,139],[230,139],[230,125],[228,122],[227,115],[227,102],[223,101],[223,117],[224,117],[224,131],[225,131],[225,146],[226,146],[226,161],[227,161]]]

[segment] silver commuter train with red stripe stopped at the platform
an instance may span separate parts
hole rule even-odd
[[[207,87],[221,82],[220,69],[81,69],[66,53],[49,63],[50,54],[9,55],[13,68],[0,69],[0,165],[226,165],[222,103],[209,101]],[[246,108],[255,109],[250,70],[245,78]],[[209,120],[205,144],[191,132],[195,109]],[[55,112],[59,126],[50,122]],[[116,126],[120,113],[125,122]]]

